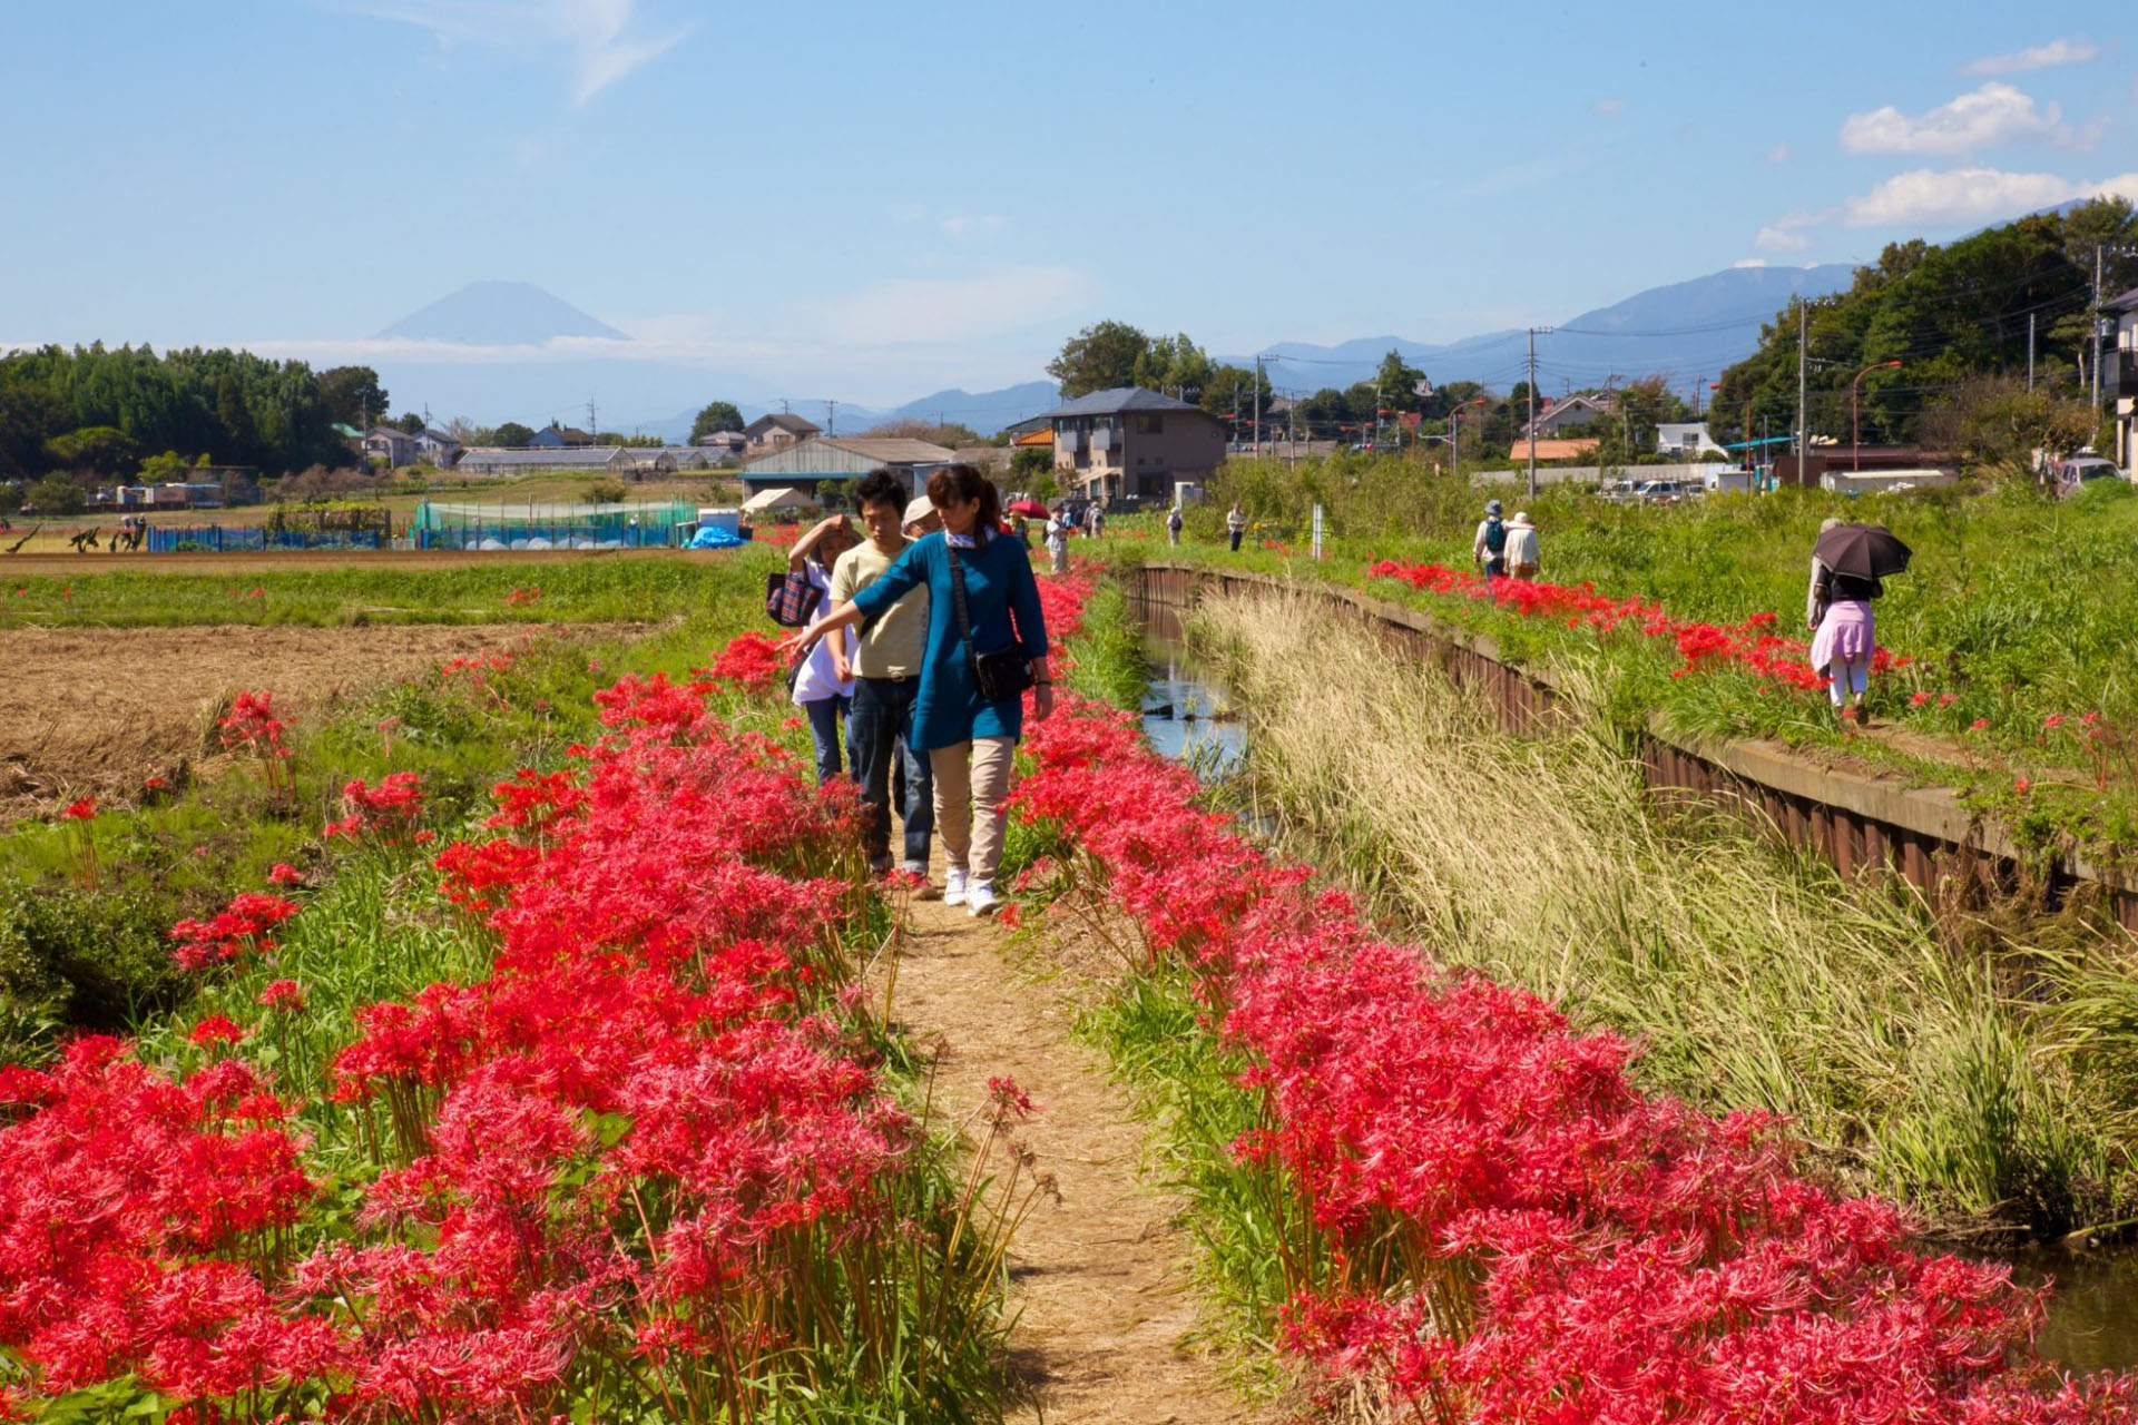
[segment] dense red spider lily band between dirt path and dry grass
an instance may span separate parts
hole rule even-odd
[[[1764,1113],[1627,1079],[1636,1049],[1377,938],[1270,863],[1131,718],[1031,731],[1016,799],[1103,867],[1150,955],[1197,974],[1253,1068],[1234,1145],[1293,1201],[1283,1340],[1403,1419],[2127,1421],[2138,1382],[2031,1359],[2005,1267],[1909,1248],[1804,1175]]]

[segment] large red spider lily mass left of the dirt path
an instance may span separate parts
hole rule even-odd
[[[436,857],[494,968],[357,1011],[314,1105],[370,1145],[353,1220],[323,1226],[280,1096],[308,1085],[246,1062],[259,1025],[199,1021],[188,1077],[111,1038],[0,1068],[0,1419],[128,1376],[195,1423],[757,1419],[795,1369],[911,1378],[870,1322],[956,1237],[900,1216],[915,1128],[836,1017],[855,805],[710,692],[603,692],[571,773]],[[239,895],[180,959],[295,912]],[[263,1023],[304,998],[274,981]]]

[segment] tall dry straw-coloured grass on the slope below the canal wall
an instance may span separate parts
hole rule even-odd
[[[2127,1216],[2138,1098],[2074,1049],[2052,976],[2003,993],[1905,889],[1659,803],[1601,718],[1507,737],[1313,598],[1210,600],[1189,639],[1246,711],[1261,810],[1430,953],[1640,1036],[1655,1087],[1794,1115],[1948,1226]],[[1580,669],[1552,675],[1580,707]]]

